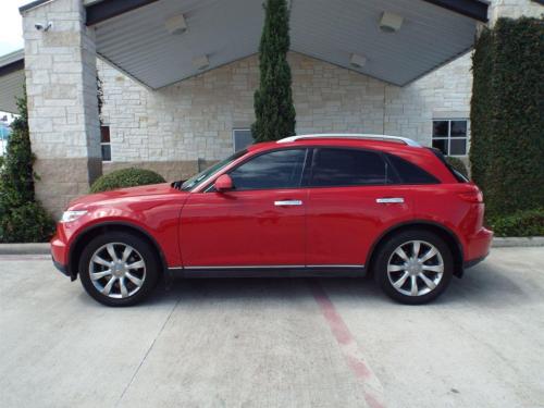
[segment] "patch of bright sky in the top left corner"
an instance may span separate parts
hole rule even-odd
[[[18,8],[32,0],[0,0],[0,57],[23,48]]]

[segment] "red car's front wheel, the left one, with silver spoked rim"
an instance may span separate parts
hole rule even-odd
[[[107,306],[131,306],[157,285],[159,261],[153,248],[132,234],[100,235],[85,247],[79,277],[85,290]]]

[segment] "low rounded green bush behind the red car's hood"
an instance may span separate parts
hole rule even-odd
[[[108,191],[115,188],[145,186],[148,184],[165,183],[164,178],[146,169],[121,169],[100,176],[92,186],[90,193]]]

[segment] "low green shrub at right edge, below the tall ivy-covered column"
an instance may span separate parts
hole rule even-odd
[[[496,236],[544,236],[544,208],[497,217],[489,225]]]

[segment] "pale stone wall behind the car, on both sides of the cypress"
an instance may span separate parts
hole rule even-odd
[[[431,145],[433,118],[468,118],[470,54],[406,86],[397,87],[326,62],[289,53],[297,133],[386,133]],[[257,55],[152,91],[103,61],[102,118],[110,125],[112,162],[168,180],[198,171],[198,160],[233,151],[232,129],[254,121]]]

